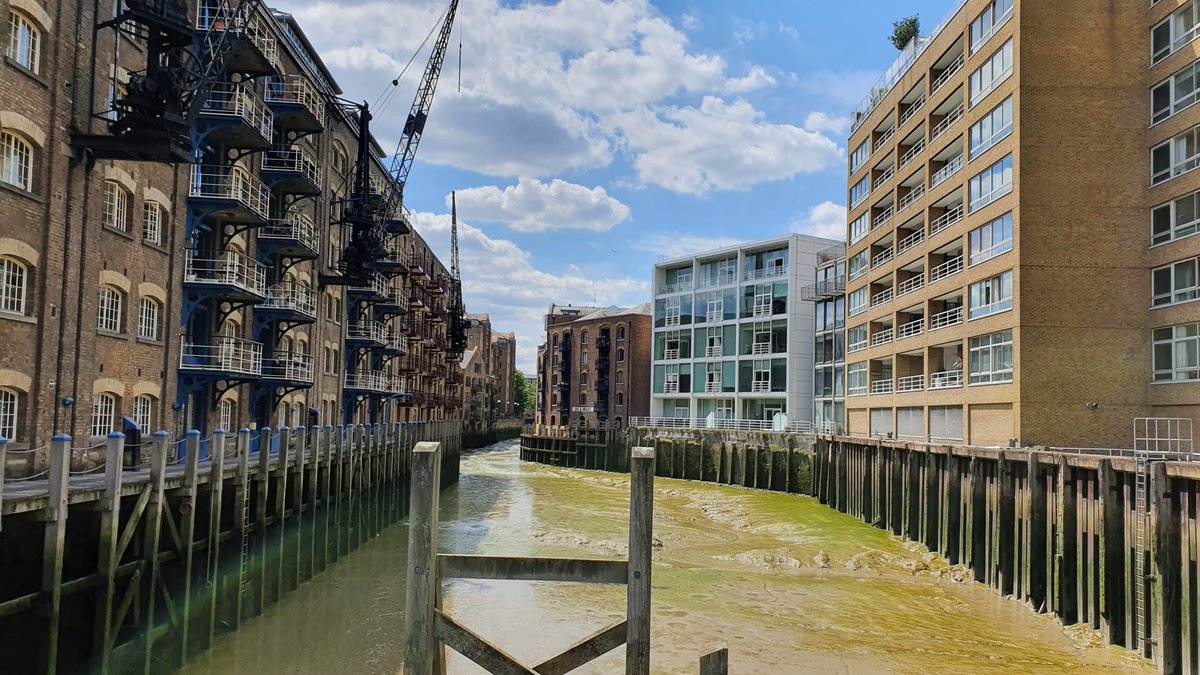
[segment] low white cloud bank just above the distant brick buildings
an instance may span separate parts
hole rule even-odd
[[[413,214],[413,225],[443,261],[450,259],[450,215]],[[458,220],[458,255],[467,311],[486,311],[496,330],[517,334],[517,368],[533,371],[542,321],[551,303],[636,305],[646,301],[644,279],[593,279],[578,268],[565,274],[538,269],[534,257],[508,239],[493,239]]]

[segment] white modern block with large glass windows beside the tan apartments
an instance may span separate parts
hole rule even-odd
[[[800,288],[838,244],[790,234],[655,264],[650,416],[811,420],[815,305]]]

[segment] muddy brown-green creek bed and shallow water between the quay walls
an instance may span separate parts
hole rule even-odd
[[[442,551],[623,556],[628,476],[522,464],[516,447],[463,459],[442,498]],[[695,673],[720,645],[732,673],[1154,671],[808,497],[658,478],[654,510],[654,673]],[[184,673],[400,671],[407,536],[385,531]],[[524,663],[625,609],[623,587],[521,581],[448,584],[445,604]],[[578,673],[623,662],[619,649]],[[457,655],[449,670],[482,671]]]

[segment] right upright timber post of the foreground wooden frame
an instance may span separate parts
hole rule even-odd
[[[629,595],[626,596],[625,673],[650,671],[650,554],[654,533],[654,448],[630,453]]]

